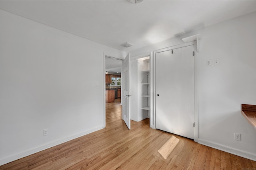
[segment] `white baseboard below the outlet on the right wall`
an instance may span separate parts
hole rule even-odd
[[[198,138],[198,143],[200,143],[202,145],[206,145],[206,146],[214,148],[214,149],[222,150],[222,151],[225,151],[225,152],[237,155],[237,156],[241,156],[243,158],[247,158],[247,159],[256,161],[256,154],[251,153],[251,152],[246,152],[244,150],[228,147],[226,145],[221,145],[221,144],[214,143],[211,141],[206,141],[206,140],[200,139],[200,138]]]

